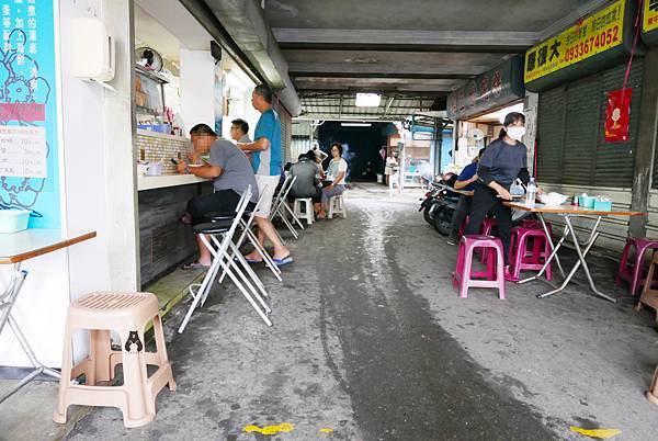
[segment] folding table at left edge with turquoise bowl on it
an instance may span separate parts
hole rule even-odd
[[[44,365],[30,347],[30,342],[21,331],[18,321],[12,317],[11,310],[15,305],[16,298],[21,293],[21,286],[27,276],[27,271],[21,269],[21,263],[27,259],[43,256],[48,252],[57,251],[71,245],[79,244],[95,237],[95,231],[67,235],[59,229],[26,229],[14,234],[0,234],[0,264],[13,264],[13,272],[4,292],[0,293],[0,333],[4,325],[9,323],[21,348],[34,366],[27,376],[19,382],[9,392],[0,396],[0,403],[15,394],[27,383],[36,378],[39,374],[46,374],[59,378],[59,373]]]

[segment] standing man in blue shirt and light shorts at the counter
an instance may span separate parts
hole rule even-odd
[[[281,176],[281,120],[272,109],[272,90],[260,84],[251,93],[251,104],[261,113],[256,125],[253,143],[238,144],[245,152],[251,154],[251,167],[256,173],[259,194],[263,200],[256,212],[254,220],[258,225],[258,240],[264,245],[265,237],[274,245],[272,259],[279,267],[291,263],[291,251],[283,245],[274,225],[270,222],[272,199]],[[251,252],[246,256],[251,263],[261,262],[259,253]]]

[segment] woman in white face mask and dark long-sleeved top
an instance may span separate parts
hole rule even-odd
[[[510,238],[512,215],[503,205],[510,201],[510,186],[517,178],[524,184],[530,181],[527,172],[527,149],[521,138],[525,135],[525,116],[512,112],[504,117],[503,129],[494,143],[487,146],[480,158],[477,174],[479,177],[473,195],[473,208],[466,227],[466,235],[477,235],[487,213],[494,213],[498,220],[498,233],[504,248],[506,279],[509,273]]]

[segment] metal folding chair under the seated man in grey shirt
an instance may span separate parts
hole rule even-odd
[[[259,290],[257,286],[252,284],[247,274],[242,272],[242,269],[248,269],[249,263],[245,260],[240,251],[235,248],[235,244],[232,242],[232,237],[238,228],[238,225],[242,220],[242,216],[247,208],[247,204],[251,199],[251,185],[247,188],[240,201],[238,202],[238,206],[236,207],[236,217],[234,219],[227,219],[226,222],[216,222],[216,223],[203,223],[195,225],[194,233],[201,235],[201,240],[203,245],[208,249],[211,255],[213,256],[213,262],[206,272],[202,283],[192,284],[189,287],[190,294],[192,295],[192,304],[179,327],[179,333],[182,333],[192,317],[192,313],[198,304],[203,305],[208,296],[211,287],[213,286],[213,282],[217,276],[217,272],[219,268],[222,268],[226,274],[230,278],[234,284],[238,287],[240,293],[247,298],[249,304],[253,307],[253,309],[258,313],[258,315],[263,319],[263,321],[268,326],[272,326],[272,321],[269,318],[272,309],[265,301],[259,294]],[[209,239],[208,239],[209,237]],[[220,239],[219,239],[220,238]],[[214,245],[214,246],[213,246]],[[216,249],[215,249],[216,247]],[[229,257],[228,250],[231,250],[235,259]],[[242,269],[240,269],[240,265]],[[249,268],[250,269],[250,268]],[[251,276],[251,274],[249,274]],[[261,284],[262,285],[262,284]],[[196,289],[196,290],[195,290]],[[261,292],[262,293],[262,292]],[[254,299],[256,298],[256,299]]]

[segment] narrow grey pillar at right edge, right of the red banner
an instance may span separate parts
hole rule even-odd
[[[647,212],[649,191],[651,189],[651,170],[656,138],[658,133],[658,47],[647,50],[644,64],[644,78],[639,102],[639,124],[637,127],[637,144],[635,147],[635,170],[633,176],[633,193],[631,210]],[[645,236],[647,216],[632,216],[628,234]]]

